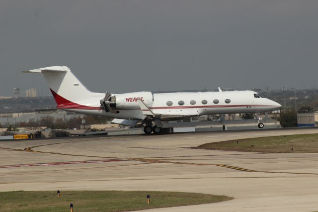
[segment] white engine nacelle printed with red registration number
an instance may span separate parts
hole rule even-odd
[[[151,92],[134,92],[126,94],[115,94],[113,95],[116,98],[116,108],[118,109],[138,109],[137,100],[141,100],[145,103],[146,106],[152,106],[154,102],[154,95]]]

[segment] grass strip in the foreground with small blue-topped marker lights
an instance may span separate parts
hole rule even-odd
[[[147,203],[150,195],[150,204]],[[0,192],[1,212],[124,212],[218,203],[232,197],[157,191],[14,191]]]

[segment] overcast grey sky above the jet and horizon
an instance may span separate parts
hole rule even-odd
[[[318,0],[0,0],[0,96],[54,65],[94,92],[318,88]]]

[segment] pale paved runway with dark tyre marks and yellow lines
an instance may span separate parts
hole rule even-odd
[[[318,129],[126,135],[0,142],[0,191],[155,190],[228,202],[151,211],[318,211],[318,153],[190,149]]]

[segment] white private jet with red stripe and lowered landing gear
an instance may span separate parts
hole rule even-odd
[[[43,74],[57,108],[72,112],[127,120],[141,120],[146,134],[159,133],[164,120],[207,114],[254,113],[281,105],[253,91],[153,94],[134,92],[111,94],[88,91],[66,66],[52,66],[23,72]],[[155,124],[153,124],[155,123]]]

